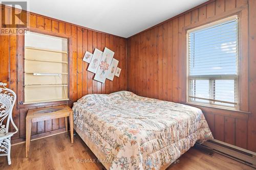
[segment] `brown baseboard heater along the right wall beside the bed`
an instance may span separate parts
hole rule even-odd
[[[217,152],[221,155],[227,156],[231,159],[256,168],[256,153],[240,147],[236,147],[232,144],[213,139],[208,140],[202,144],[196,143],[195,147]]]

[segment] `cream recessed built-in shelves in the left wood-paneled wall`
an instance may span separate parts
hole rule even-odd
[[[69,100],[68,39],[28,31],[24,56],[24,104]]]

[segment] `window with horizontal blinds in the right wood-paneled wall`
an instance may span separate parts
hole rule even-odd
[[[239,27],[232,16],[187,32],[187,100],[238,109]]]

